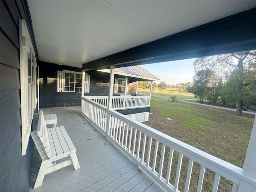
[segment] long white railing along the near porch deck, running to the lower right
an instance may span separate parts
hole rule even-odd
[[[188,192],[191,190],[191,182],[196,184],[196,190],[200,192],[204,180],[208,180],[208,183],[211,183],[212,192],[217,192],[220,176],[231,181],[232,192],[238,191],[241,181],[246,182],[248,186],[256,185],[255,180],[242,174],[242,168],[136,122],[114,110],[108,110],[105,106],[88,98],[82,97],[81,112],[167,191]],[[192,174],[195,169],[198,170],[198,176]],[[181,171],[186,172],[182,175],[182,177],[185,176],[182,189],[179,186]],[[209,175],[212,175],[212,178],[207,179]]]

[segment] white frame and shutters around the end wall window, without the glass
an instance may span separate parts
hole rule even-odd
[[[65,91],[65,72],[83,75],[82,72],[76,72],[76,71],[69,71],[69,70],[58,71],[57,92],[82,93],[83,89],[84,89],[85,93],[90,92],[90,75],[88,75],[88,74],[85,74],[84,87],[83,87],[83,82],[82,82],[82,91],[77,92],[77,91],[75,91],[75,89],[74,89],[74,91]],[[83,77],[82,77],[82,80],[83,80]]]

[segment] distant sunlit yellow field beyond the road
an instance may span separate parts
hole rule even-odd
[[[149,94],[150,89],[138,87],[138,93]],[[158,89],[152,88],[152,96],[170,97],[177,96],[180,99],[195,99],[191,93],[180,92],[176,88]]]

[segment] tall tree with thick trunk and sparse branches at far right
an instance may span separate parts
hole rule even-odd
[[[250,86],[256,80],[247,81],[244,76],[244,70],[248,68],[248,64],[256,62],[256,51],[246,51],[239,53],[230,53],[216,56],[208,56],[197,58],[193,63],[195,69],[215,68],[219,73],[230,74],[234,69],[237,69],[237,82],[236,82],[236,115],[242,116],[243,99],[244,99],[244,86]]]

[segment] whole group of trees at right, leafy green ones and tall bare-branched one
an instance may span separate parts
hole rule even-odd
[[[256,106],[256,51],[197,58],[193,85],[187,91],[212,103],[236,105],[236,115],[244,106]]]

